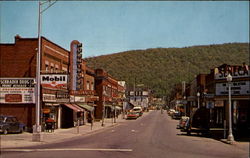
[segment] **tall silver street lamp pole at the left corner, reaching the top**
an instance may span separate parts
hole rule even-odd
[[[41,141],[41,122],[40,122],[40,115],[41,115],[41,106],[40,106],[40,70],[41,70],[41,24],[42,24],[42,13],[51,7],[53,4],[50,3],[45,9],[42,10],[42,5],[49,2],[41,2],[39,1],[39,10],[38,10],[38,53],[37,53],[37,64],[36,64],[36,124],[33,126],[33,135],[32,141],[40,142]]]

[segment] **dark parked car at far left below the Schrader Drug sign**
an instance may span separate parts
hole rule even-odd
[[[14,116],[0,115],[0,132],[3,134],[8,133],[22,133],[25,130],[25,125],[18,122]]]

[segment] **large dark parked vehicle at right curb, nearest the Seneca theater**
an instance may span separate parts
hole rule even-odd
[[[187,135],[190,135],[191,133],[208,134],[209,121],[209,109],[206,109],[205,107],[199,108],[186,121],[185,126],[181,131],[187,132]]]

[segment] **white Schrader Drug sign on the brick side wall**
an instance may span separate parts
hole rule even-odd
[[[0,103],[35,103],[34,78],[1,78]]]

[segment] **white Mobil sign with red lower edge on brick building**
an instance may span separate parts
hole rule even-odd
[[[41,85],[43,87],[50,88],[59,88],[66,89],[67,88],[67,75],[61,74],[47,74],[41,75]]]

